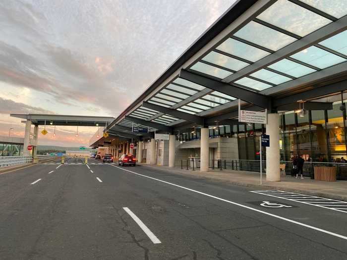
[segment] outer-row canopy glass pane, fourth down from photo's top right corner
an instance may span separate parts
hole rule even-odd
[[[217,47],[217,50],[230,53],[240,58],[255,62],[267,55],[270,52],[265,52],[245,43],[241,43],[234,39],[227,39],[224,43]]]

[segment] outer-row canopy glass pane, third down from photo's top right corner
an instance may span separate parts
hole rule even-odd
[[[296,39],[293,37],[280,33],[254,21],[250,21],[234,35],[248,42],[266,47],[272,51],[277,51],[296,41]]]

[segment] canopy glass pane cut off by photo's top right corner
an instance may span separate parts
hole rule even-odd
[[[336,18],[341,18],[347,14],[346,0],[300,0],[318,10],[330,14]]]

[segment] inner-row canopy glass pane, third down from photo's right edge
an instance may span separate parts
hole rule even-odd
[[[280,61],[277,61],[276,63],[271,64],[269,68],[286,73],[296,78],[316,71],[314,69],[301,65],[289,59],[282,59]]]

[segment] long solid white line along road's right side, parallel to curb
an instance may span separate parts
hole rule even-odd
[[[227,202],[227,203],[230,203],[232,205],[236,205],[236,206],[239,206],[239,207],[242,207],[242,208],[247,208],[247,209],[250,209],[250,210],[253,210],[253,211],[257,211],[259,213],[263,213],[263,214],[268,215],[268,216],[276,217],[276,218],[279,218],[279,219],[282,219],[282,220],[285,220],[285,221],[288,221],[288,222],[291,222],[291,223],[294,223],[294,224],[297,224],[297,225],[300,225],[300,226],[311,228],[311,229],[314,229],[314,230],[317,230],[317,231],[320,231],[320,232],[323,232],[323,233],[326,233],[326,234],[329,234],[329,235],[332,235],[332,236],[339,237],[339,238],[347,240],[347,236],[343,236],[343,235],[340,235],[340,234],[337,234],[337,233],[334,233],[334,232],[331,232],[331,231],[328,231],[328,230],[324,230],[324,229],[321,229],[321,228],[318,228],[318,227],[310,226],[310,225],[307,225],[307,224],[304,224],[304,223],[300,223],[300,222],[295,221],[295,220],[291,220],[291,219],[286,218],[286,217],[282,217],[282,216],[279,216],[279,215],[271,214],[269,212],[266,212],[266,211],[263,211],[263,210],[260,210],[260,209],[257,209],[257,208],[251,208],[251,207],[248,207],[246,205],[242,205],[242,204],[239,204],[239,203],[236,203],[236,202],[232,202],[232,201],[228,201],[228,200],[225,200],[225,199],[213,196],[213,195],[209,195],[207,193],[203,193],[203,192],[196,191],[196,190],[193,190],[193,189],[189,189],[189,188],[186,188],[186,187],[183,187],[183,186],[180,186],[180,185],[177,185],[177,184],[173,184],[173,183],[170,183],[170,182],[167,182],[167,181],[163,181],[163,180],[160,180],[160,179],[149,177],[149,176],[137,173],[137,172],[126,170],[124,168],[120,168],[120,167],[112,165],[112,164],[109,164],[109,165],[111,165],[113,167],[116,167],[118,169],[124,170],[124,171],[131,172],[133,174],[136,174],[136,175],[139,175],[139,176],[142,176],[142,177],[146,177],[146,178],[149,178],[149,179],[152,179],[152,180],[160,181],[160,182],[163,182],[163,183],[166,183],[166,184],[169,184],[169,185],[173,185],[175,187],[178,187],[178,188],[181,188],[181,189],[184,189],[184,190],[187,190],[187,191],[195,192],[195,193],[198,193],[198,194],[201,194],[201,195],[204,195],[204,196],[207,196],[207,197],[219,200],[219,201]]]

